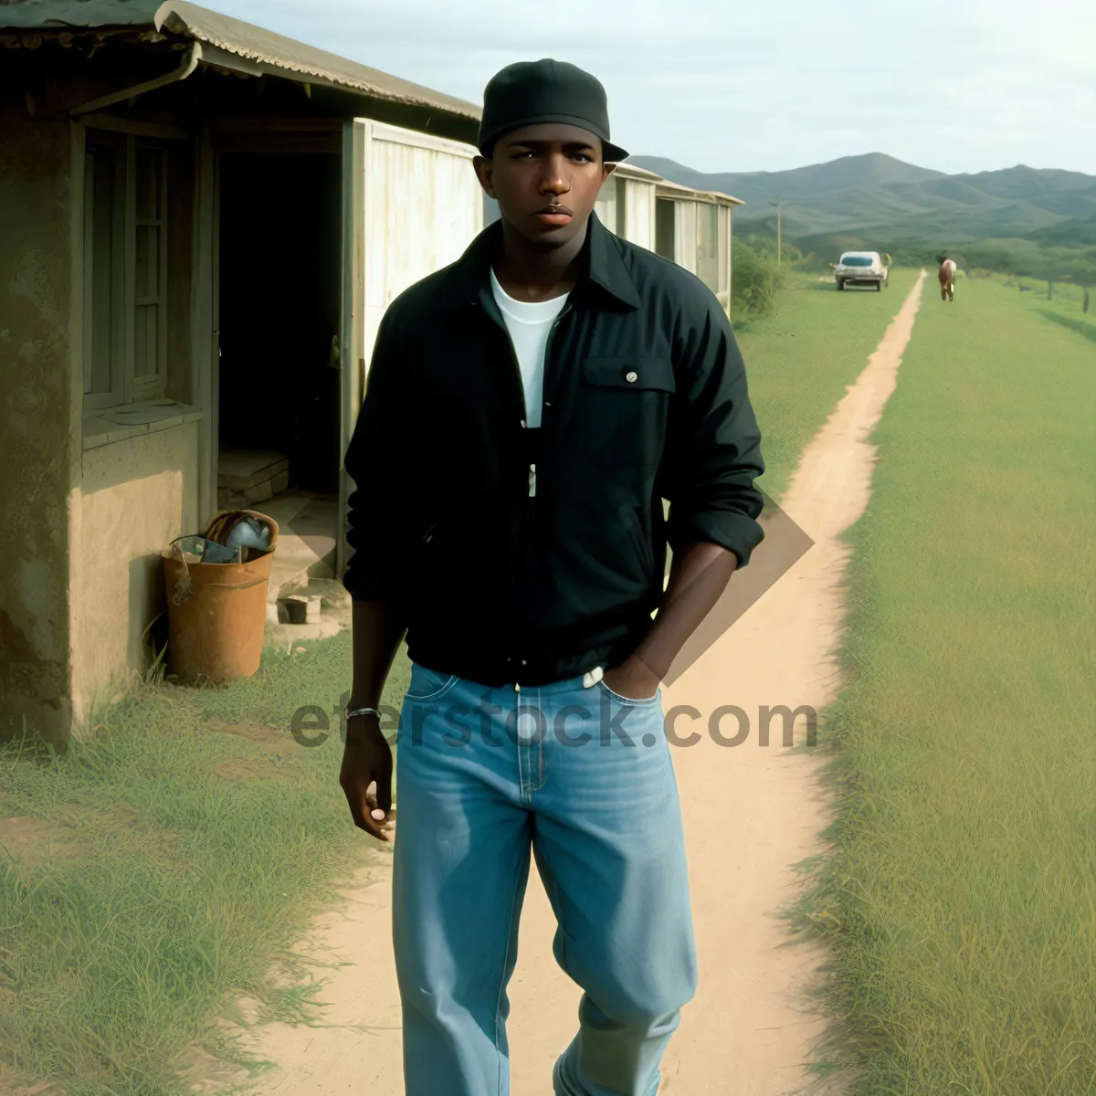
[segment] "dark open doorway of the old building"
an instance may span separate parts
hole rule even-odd
[[[286,490],[333,496],[341,158],[224,153],[219,176],[220,504],[244,489],[260,507]]]

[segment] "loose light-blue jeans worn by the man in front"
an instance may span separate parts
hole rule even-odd
[[[631,700],[576,677],[518,693],[414,665],[396,794],[407,1096],[510,1093],[506,983],[530,852],[556,960],[584,991],[556,1096],[654,1096],[696,991],[661,692]]]

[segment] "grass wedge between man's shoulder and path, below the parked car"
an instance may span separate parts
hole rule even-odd
[[[779,500],[803,447],[867,366],[916,277],[895,270],[889,289],[838,294],[832,277],[796,274],[776,316],[735,332],[761,426],[765,475],[757,487],[772,499]]]

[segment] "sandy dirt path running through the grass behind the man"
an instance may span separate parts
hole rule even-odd
[[[664,1059],[671,1096],[784,1096],[806,1085],[822,1021],[803,1011],[801,991],[819,955],[787,940],[780,907],[797,889],[794,869],[820,849],[827,804],[817,787],[819,762],[783,745],[774,720],[758,744],[762,705],[821,710],[836,688],[834,651],[848,549],[837,537],[867,503],[874,449],[867,436],[897,383],[898,366],[921,300],[925,272],[891,322],[856,384],[803,453],[781,501],[814,546],[749,608],[688,671],[664,690],[666,710],[692,705],[701,731],[674,750],[685,812],[700,985]],[[778,551],[767,539],[761,551]],[[733,583],[732,583],[733,584]],[[742,745],[719,745],[710,715],[738,705],[751,720]],[[733,719],[721,726],[733,735]],[[800,720],[796,741],[802,740]],[[398,840],[398,838],[397,838]],[[389,875],[354,892],[345,910],[322,917],[308,950],[328,985],[317,1027],[273,1025],[243,1041],[279,1063],[256,1092],[293,1096],[402,1092],[399,998],[391,957]],[[551,1063],[570,1041],[580,991],[551,957],[555,922],[536,872],[522,915],[517,969],[510,986],[512,1091],[544,1096]],[[225,1078],[227,1080],[227,1077]],[[207,1087],[206,1092],[216,1092]]]

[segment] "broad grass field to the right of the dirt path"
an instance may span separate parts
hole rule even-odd
[[[857,1094],[1096,1092],[1096,352],[992,282],[932,283],[850,530],[834,945]],[[1025,295],[1028,296],[1028,295]]]

